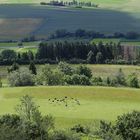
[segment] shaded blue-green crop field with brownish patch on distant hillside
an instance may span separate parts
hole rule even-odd
[[[17,12],[18,11],[18,12]],[[57,29],[83,28],[102,33],[140,32],[140,16],[108,9],[57,8],[39,5],[0,5],[0,39],[29,35],[47,37]]]

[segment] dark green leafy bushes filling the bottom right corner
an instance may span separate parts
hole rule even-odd
[[[140,112],[119,116],[114,125],[101,121],[99,135],[105,140],[139,140]]]

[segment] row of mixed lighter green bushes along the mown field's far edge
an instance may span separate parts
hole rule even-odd
[[[95,86],[123,86],[139,88],[139,79],[135,73],[125,76],[122,69],[109,77],[94,76],[91,69],[84,65],[72,67],[60,62],[56,68],[45,65],[37,71],[33,62],[27,68],[19,68],[14,63],[8,68],[10,86],[33,85],[95,85]]]

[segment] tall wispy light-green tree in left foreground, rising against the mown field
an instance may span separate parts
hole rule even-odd
[[[47,140],[49,132],[54,127],[52,116],[42,116],[39,107],[36,106],[33,99],[25,95],[20,99],[16,111],[22,120],[22,129],[27,140]]]

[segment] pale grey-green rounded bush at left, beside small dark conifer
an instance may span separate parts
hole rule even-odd
[[[10,86],[33,86],[35,84],[34,76],[27,68],[11,72],[8,76],[8,82]]]

